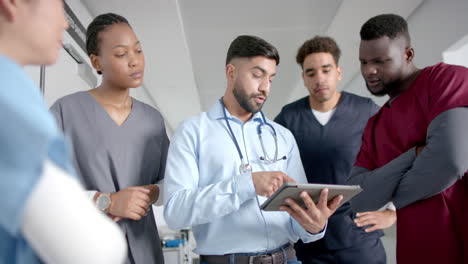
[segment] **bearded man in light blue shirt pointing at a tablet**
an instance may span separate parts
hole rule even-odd
[[[172,229],[193,228],[202,263],[299,263],[290,243],[322,238],[341,200],[327,204],[325,190],[317,204],[303,193],[307,208],[288,199],[283,212],[260,209],[283,183],[307,182],[291,132],[260,111],[278,63],[263,39],[236,38],[224,97],[183,122],[172,139],[164,216]]]

